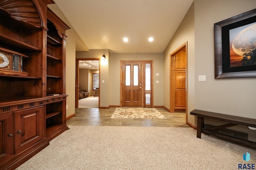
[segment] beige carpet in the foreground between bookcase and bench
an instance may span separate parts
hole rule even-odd
[[[255,149],[198,139],[192,128],[70,126],[17,170],[237,170],[244,163],[256,163]]]

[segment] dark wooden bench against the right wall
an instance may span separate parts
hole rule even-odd
[[[256,119],[250,119],[250,118],[246,118],[246,117],[238,117],[238,116],[232,116],[232,115],[225,115],[225,114],[214,113],[214,112],[209,112],[209,111],[202,111],[202,110],[197,110],[197,109],[191,111],[190,114],[197,116],[197,135],[196,135],[196,137],[201,138],[201,133],[208,133],[210,135],[214,135],[217,137],[221,137],[224,139],[228,139],[231,141],[235,141],[237,143],[241,143],[241,144],[256,148],[256,142],[239,139],[237,137],[232,137],[229,135],[224,135],[222,133],[214,132],[214,130],[217,130],[217,129],[236,126],[236,125],[245,125],[245,126],[250,126],[250,127],[256,127]],[[207,129],[205,129],[204,128],[204,117],[209,118],[209,119],[219,120],[219,121],[225,121],[225,122],[227,122],[227,124],[209,127]]]

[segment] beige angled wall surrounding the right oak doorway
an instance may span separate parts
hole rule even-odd
[[[190,115],[194,109],[195,96],[195,55],[194,55],[194,3],[191,5],[182,23],[164,50],[164,106],[170,109],[170,54],[181,45],[188,42],[188,66],[187,66],[187,92],[188,92],[188,122],[194,125],[195,118]]]

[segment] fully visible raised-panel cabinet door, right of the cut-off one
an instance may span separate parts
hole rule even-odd
[[[43,107],[14,113],[15,152],[20,152],[44,138]]]

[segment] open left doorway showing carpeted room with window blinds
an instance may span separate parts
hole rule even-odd
[[[75,107],[100,106],[100,59],[76,59]]]

